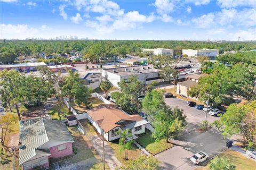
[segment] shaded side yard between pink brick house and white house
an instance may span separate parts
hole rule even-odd
[[[101,161],[97,152],[94,151],[89,145],[89,141],[85,136],[78,131],[77,126],[71,126],[68,128],[75,142],[73,143],[73,155],[61,157],[58,159],[50,160],[50,169],[55,169],[56,167],[67,167],[72,165],[73,167],[90,167],[95,163]],[[77,154],[76,154],[77,152]]]

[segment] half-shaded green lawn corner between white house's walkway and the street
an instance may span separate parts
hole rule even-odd
[[[173,147],[172,143],[166,143],[165,139],[161,141],[156,141],[154,138],[151,137],[151,133],[149,130],[145,131],[146,134],[142,135],[136,141],[145,149],[147,149],[150,154],[158,154],[161,151],[169,149]]]

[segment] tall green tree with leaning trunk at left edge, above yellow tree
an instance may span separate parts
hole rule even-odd
[[[0,86],[4,89],[2,92],[9,94],[7,100],[10,102],[10,105],[15,106],[19,120],[21,120],[18,104],[24,102],[22,93],[25,90],[22,84],[24,84],[25,77],[16,70],[3,70],[0,71],[0,79]]]

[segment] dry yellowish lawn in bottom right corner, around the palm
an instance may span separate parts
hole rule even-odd
[[[237,151],[227,149],[223,151],[218,157],[225,157],[230,160],[231,163],[236,165],[237,170],[254,170],[256,169],[256,162],[250,158],[246,158]],[[210,170],[207,165],[200,166],[196,170]]]

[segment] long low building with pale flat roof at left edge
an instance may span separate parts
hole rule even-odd
[[[36,71],[36,68],[39,66],[46,66],[44,62],[40,63],[21,63],[21,64],[7,64],[7,65],[0,65],[0,71],[1,70],[11,70],[15,69],[17,71]]]

